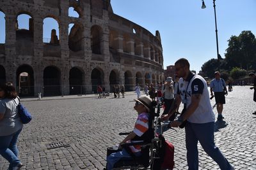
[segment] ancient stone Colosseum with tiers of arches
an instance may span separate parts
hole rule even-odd
[[[159,31],[153,35],[116,15],[110,0],[1,0],[0,13],[0,81],[12,81],[20,96],[89,94],[97,85],[110,91],[114,84],[128,91],[136,83],[163,81]],[[29,16],[28,29],[19,29],[20,15]],[[58,23],[49,41],[46,18]]]

